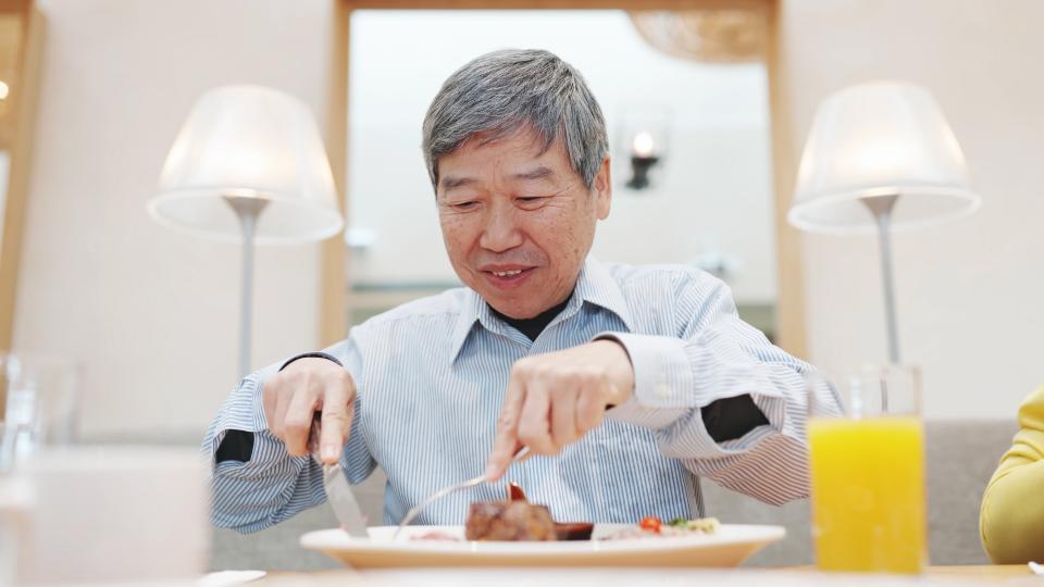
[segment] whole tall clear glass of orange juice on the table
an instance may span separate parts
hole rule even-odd
[[[817,401],[822,386],[836,394],[842,413]],[[837,377],[815,374],[809,389],[819,569],[919,573],[927,558],[919,370],[888,365]]]

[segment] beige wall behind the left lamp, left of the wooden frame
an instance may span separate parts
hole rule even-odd
[[[88,436],[201,434],[237,379],[239,247],[172,232],[145,204],[204,90],[264,84],[325,112],[331,2],[38,3],[14,347],[80,362]],[[258,250],[254,365],[318,344],[316,250]]]

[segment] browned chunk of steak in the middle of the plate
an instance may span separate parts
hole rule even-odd
[[[480,501],[471,504],[464,535],[469,540],[555,540],[555,522],[544,505]]]

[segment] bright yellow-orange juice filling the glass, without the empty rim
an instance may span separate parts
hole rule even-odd
[[[924,449],[913,416],[817,419],[812,536],[828,571],[918,573],[924,561]]]

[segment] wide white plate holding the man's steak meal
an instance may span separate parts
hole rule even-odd
[[[407,566],[736,566],[769,542],[786,536],[782,526],[723,524],[713,534],[599,540],[625,524],[597,524],[594,539],[561,542],[413,540],[431,532],[463,537],[462,526],[369,528],[352,538],[339,528],[310,532],[301,546],[356,569]]]

